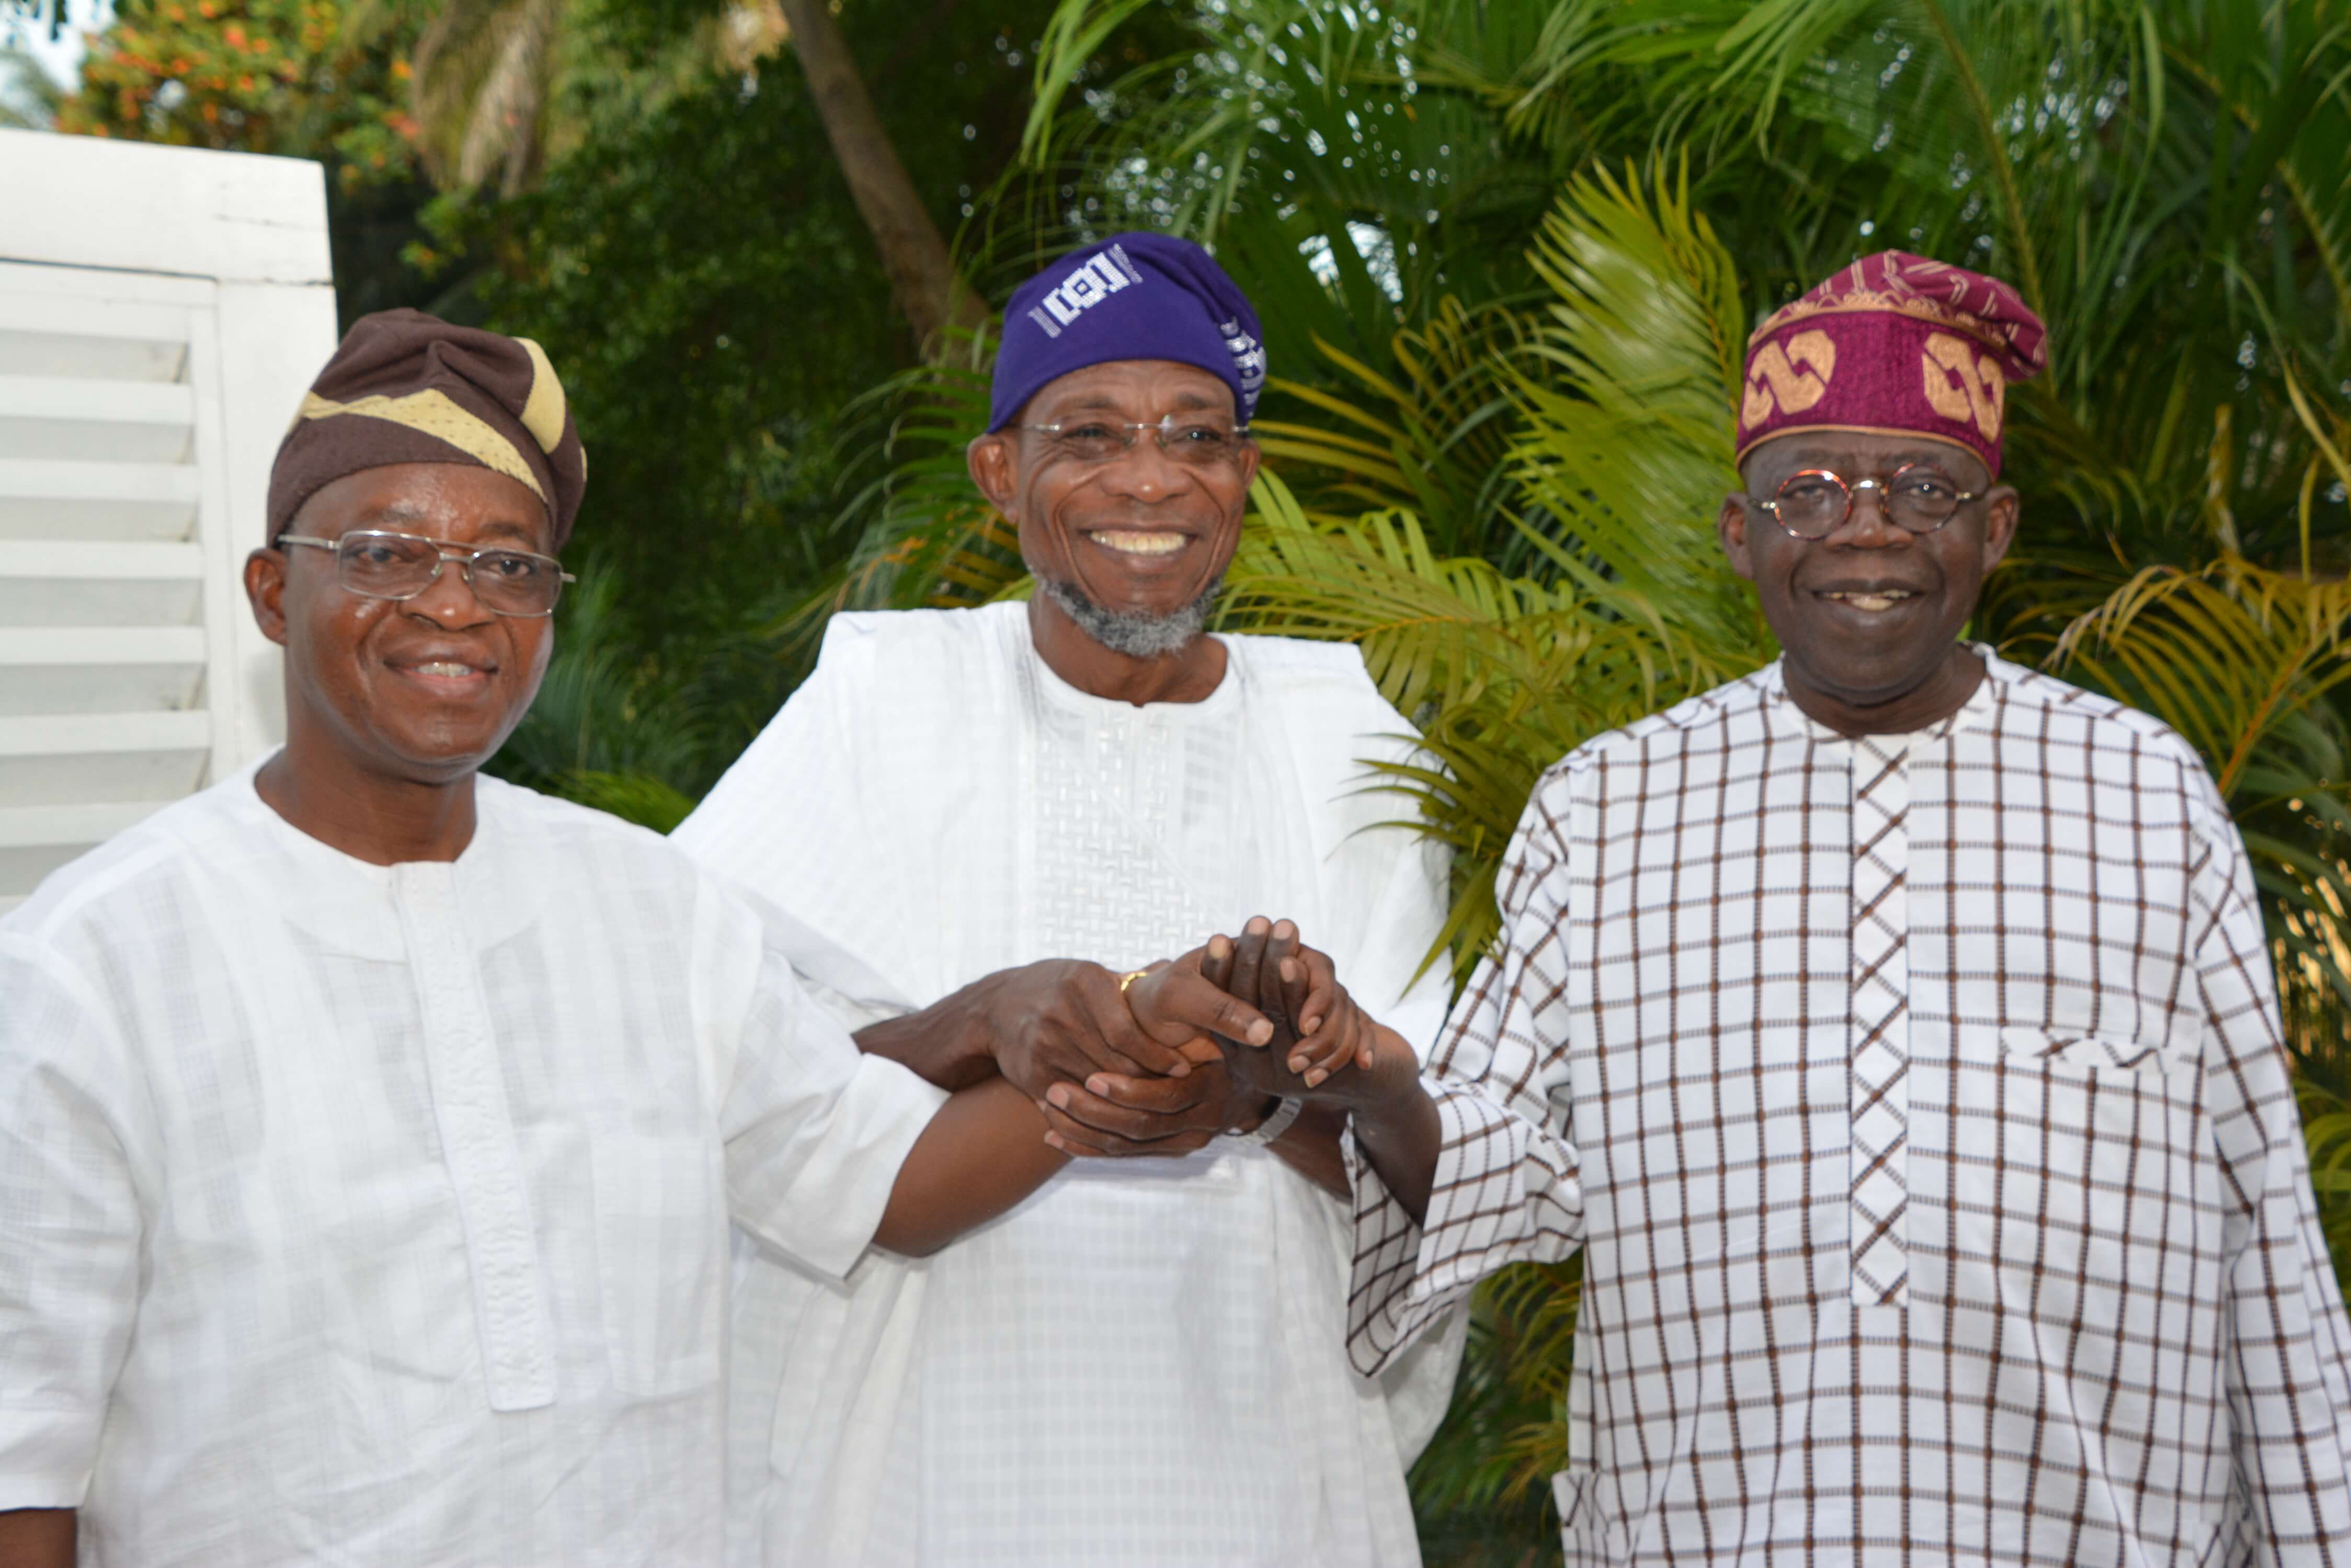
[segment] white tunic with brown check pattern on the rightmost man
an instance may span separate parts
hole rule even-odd
[[[1580,748],[1432,1058],[1425,1229],[1349,1145],[1366,1373],[1582,1248],[1568,1563],[2351,1566],[2351,1328],[2245,851],[2158,722],[1987,670],[1895,743],[1770,668]]]

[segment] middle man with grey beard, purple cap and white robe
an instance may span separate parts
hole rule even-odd
[[[1027,604],[837,616],[677,832],[823,933],[858,1044],[1077,1119],[1004,1220],[846,1288],[743,1248],[741,1563],[1415,1563],[1404,1469],[1458,1338],[1347,1366],[1335,1121],[1140,1034],[1124,985],[1260,910],[1415,1044],[1444,860],[1361,792],[1406,722],[1347,646],[1208,637],[1265,383],[1194,244],[1117,235],[1013,294],[980,491]],[[1121,978],[1124,976],[1124,978]],[[1270,1034],[1270,1025],[1265,1027]]]

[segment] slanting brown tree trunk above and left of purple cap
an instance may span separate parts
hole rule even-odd
[[[825,118],[832,155],[849,176],[849,193],[882,252],[882,270],[891,294],[915,327],[924,353],[938,346],[947,327],[978,327],[987,306],[955,273],[947,242],[938,237],[929,209],[915,195],[915,181],[898,162],[898,148],[882,129],[872,94],[849,59],[849,42],[832,21],[828,0],[781,0],[792,26],[799,68],[809,73],[809,94]]]

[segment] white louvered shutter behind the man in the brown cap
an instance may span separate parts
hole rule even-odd
[[[242,569],[331,350],[317,165],[0,132],[0,912],[280,738]]]

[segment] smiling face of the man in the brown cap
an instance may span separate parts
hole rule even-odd
[[[463,548],[552,555],[529,487],[487,468],[397,463],[320,489],[289,534],[421,534]],[[327,748],[364,773],[449,783],[480,769],[522,719],[555,649],[545,616],[491,614],[458,562],[414,599],[369,599],[334,555],[254,550],[245,588],[261,630],[287,649],[287,752]]]

